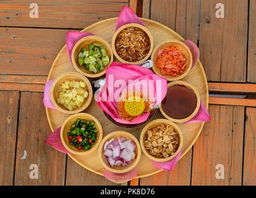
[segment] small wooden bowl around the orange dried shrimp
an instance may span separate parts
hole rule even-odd
[[[157,53],[158,53],[159,49],[164,49],[169,46],[177,46],[187,59],[187,61],[186,61],[187,67],[186,67],[185,71],[183,72],[183,74],[177,75],[175,77],[172,77],[170,75],[161,74],[159,67],[156,66]],[[192,67],[192,61],[193,61],[192,53],[191,53],[190,49],[188,48],[187,45],[185,45],[182,41],[179,41],[179,40],[167,40],[167,41],[164,41],[164,42],[160,43],[159,45],[157,45],[151,54],[151,60],[153,62],[152,69],[154,70],[154,72],[157,75],[164,77],[165,79],[167,79],[169,81],[179,80],[179,79],[182,79],[183,77],[185,77],[188,74],[188,72],[190,72],[190,69]]]

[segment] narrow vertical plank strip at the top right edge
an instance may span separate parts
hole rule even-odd
[[[256,82],[256,1],[250,1],[247,82]]]

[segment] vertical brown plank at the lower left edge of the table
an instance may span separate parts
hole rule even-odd
[[[0,185],[12,185],[15,169],[15,145],[19,111],[19,92],[0,92]]]

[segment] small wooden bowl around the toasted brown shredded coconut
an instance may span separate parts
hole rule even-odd
[[[140,61],[137,62],[128,62],[123,60],[118,54],[117,54],[117,50],[115,49],[115,40],[117,39],[118,34],[121,32],[121,30],[124,30],[125,28],[128,27],[137,27],[141,30],[143,30],[149,37],[150,40],[150,49],[149,49],[149,53],[147,54],[147,56],[145,56],[143,59],[141,59]],[[118,61],[120,62],[124,62],[124,63],[128,63],[128,64],[141,64],[142,62],[146,61],[149,56],[151,55],[153,48],[154,48],[154,40],[152,37],[152,34],[149,32],[148,28],[144,27],[143,25],[139,25],[139,24],[126,24],[121,26],[120,28],[118,28],[118,30],[114,33],[113,37],[112,37],[112,50],[113,50],[113,54],[115,55],[115,57],[118,59]]]

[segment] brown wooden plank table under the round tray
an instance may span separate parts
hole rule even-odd
[[[219,2],[224,19],[215,16]],[[116,17],[124,5],[197,43],[210,93],[218,94],[210,97],[212,121],[175,169],[128,184],[256,184],[255,0],[38,0],[38,19],[30,19],[29,4],[0,2],[0,185],[114,184],[45,145],[51,130],[42,92],[66,32]],[[33,164],[38,179],[29,177]],[[219,164],[224,179],[216,179]]]

